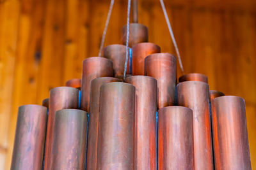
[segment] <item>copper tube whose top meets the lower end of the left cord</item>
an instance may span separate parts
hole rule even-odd
[[[104,57],[89,57],[83,60],[81,110],[89,110],[91,81],[94,78],[111,76],[113,76],[111,60]]]

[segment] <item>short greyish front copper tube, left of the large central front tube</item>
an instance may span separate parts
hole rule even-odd
[[[87,112],[56,111],[53,129],[52,169],[85,169]]]

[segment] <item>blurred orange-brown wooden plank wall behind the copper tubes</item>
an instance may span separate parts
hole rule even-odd
[[[150,42],[174,53],[159,1],[139,2]],[[210,89],[246,99],[256,169],[256,1],[165,3],[185,72],[206,74]],[[108,6],[107,0],[0,0],[0,169],[10,169],[18,107],[41,104],[49,89],[81,77],[82,60],[99,51]],[[126,8],[127,0],[116,0],[105,45],[121,42]]]

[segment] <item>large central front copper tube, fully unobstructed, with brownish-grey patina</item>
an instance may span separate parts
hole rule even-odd
[[[97,169],[134,169],[134,105],[133,85],[100,87]]]

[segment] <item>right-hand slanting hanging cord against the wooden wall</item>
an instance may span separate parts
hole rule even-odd
[[[176,40],[174,38],[174,34],[173,34],[173,31],[172,31],[172,26],[170,24],[170,20],[168,18],[168,15],[167,15],[166,8],[164,6],[163,0],[160,0],[160,3],[161,3],[161,6],[162,6],[162,9],[163,9],[163,13],[164,13],[164,17],[165,17],[165,20],[166,20],[166,24],[168,25],[168,29],[169,29],[169,32],[170,32],[171,37],[172,37],[172,42],[173,42],[173,45],[175,47],[175,51],[176,51],[177,56],[178,56],[181,72],[182,72],[182,74],[184,74],[184,68],[182,66],[182,62],[181,62],[181,59],[180,59],[179,48],[178,48]]]

